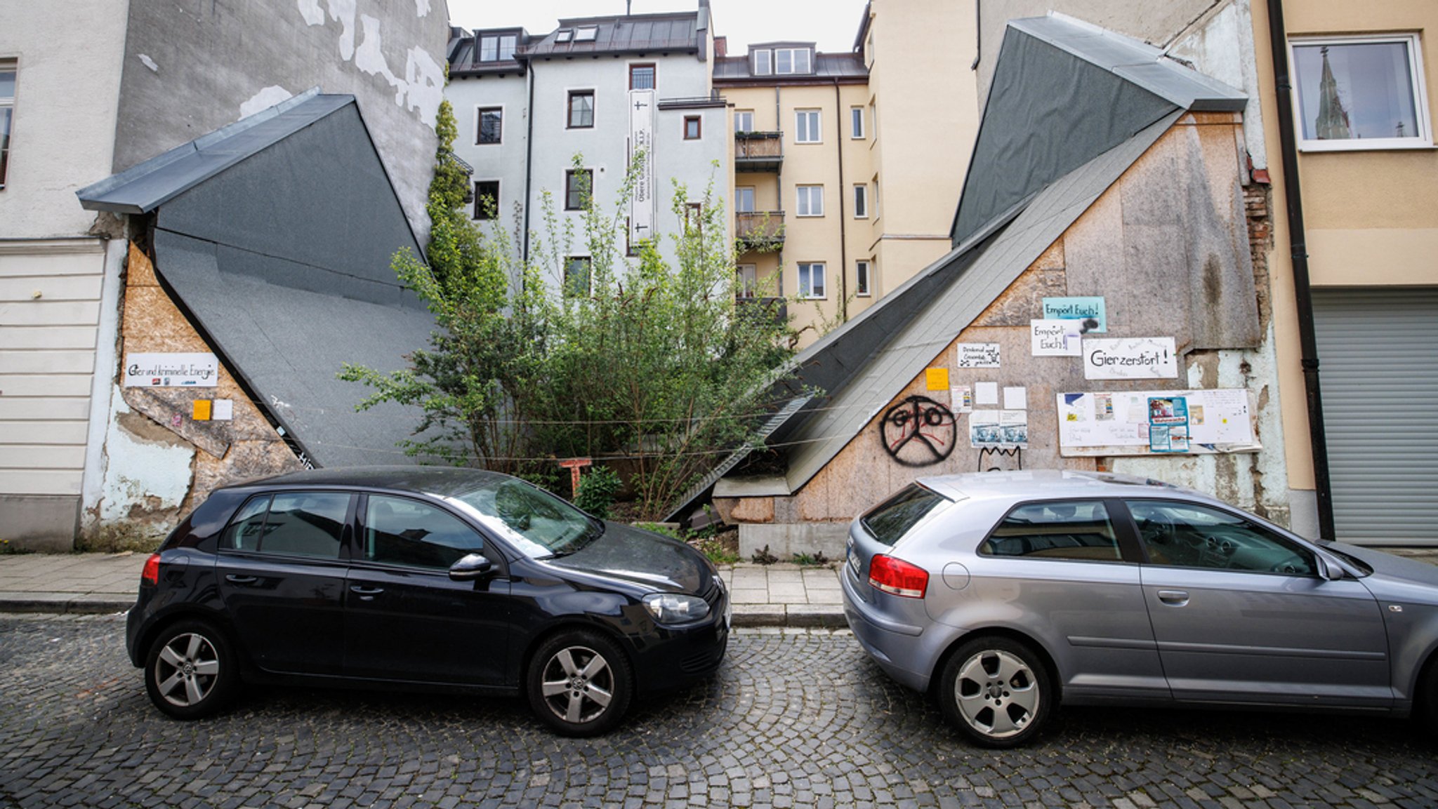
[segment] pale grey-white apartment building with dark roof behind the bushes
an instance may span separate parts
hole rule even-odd
[[[617,256],[653,241],[673,262],[669,237],[690,216],[674,210],[674,184],[690,203],[710,185],[722,200],[729,185],[712,53],[703,0],[696,11],[565,19],[546,34],[456,30],[446,98],[454,152],[473,167],[470,216],[509,233],[555,289],[587,289],[588,195],[623,221]]]

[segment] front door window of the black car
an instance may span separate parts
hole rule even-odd
[[[365,507],[364,558],[387,565],[447,570],[485,539],[457,517],[420,500],[371,494]]]

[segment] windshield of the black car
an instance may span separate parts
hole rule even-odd
[[[574,553],[604,533],[603,522],[521,480],[496,479],[450,501],[531,559]]]

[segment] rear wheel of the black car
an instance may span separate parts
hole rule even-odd
[[[224,710],[239,690],[239,674],[229,638],[209,621],[165,627],[145,657],[150,701],[175,718],[200,718]]]

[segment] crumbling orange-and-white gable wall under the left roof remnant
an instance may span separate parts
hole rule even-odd
[[[160,286],[150,257],[132,244],[121,366],[134,352],[210,351]],[[234,420],[196,421],[196,399],[233,401]],[[104,491],[85,514],[85,530],[118,524],[127,533],[162,535],[219,486],[298,468],[295,453],[223,364],[214,388],[121,388],[116,379]]]

